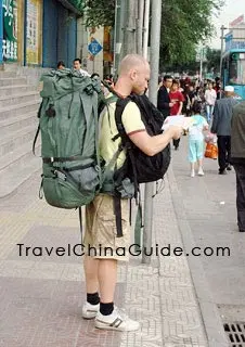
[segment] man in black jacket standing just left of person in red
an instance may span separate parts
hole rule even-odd
[[[157,94],[157,108],[162,112],[164,118],[170,116],[170,110],[173,106],[169,97],[171,86],[172,77],[170,75],[165,75],[163,86],[159,88]]]

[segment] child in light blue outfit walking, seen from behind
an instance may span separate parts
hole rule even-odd
[[[207,120],[201,115],[202,103],[195,101],[193,106],[192,123],[189,127],[189,162],[191,163],[191,177],[195,177],[197,165],[197,175],[204,176],[204,130],[208,130]]]

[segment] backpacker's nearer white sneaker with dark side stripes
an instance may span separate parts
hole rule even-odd
[[[98,312],[94,323],[98,329],[116,330],[118,332],[132,332],[140,327],[139,322],[133,321],[117,308],[114,308],[114,311],[108,316]]]

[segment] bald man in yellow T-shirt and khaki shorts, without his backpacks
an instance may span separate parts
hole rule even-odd
[[[119,66],[119,77],[115,91],[121,98],[131,93],[143,94],[150,79],[150,65],[138,54],[125,56]],[[102,119],[100,131],[100,155],[106,164],[112,162],[120,145],[117,138],[118,130],[115,123],[116,102],[111,103]],[[180,127],[170,127],[164,133],[151,137],[141,119],[137,104],[129,102],[124,110],[124,128],[130,140],[145,154],[155,155],[163,151],[171,139],[181,134]],[[115,138],[117,138],[115,140]],[[121,167],[126,157],[121,153],[117,167]],[[119,309],[114,307],[114,294],[117,281],[118,260],[129,260],[130,230],[129,230],[129,200],[121,198],[122,237],[117,237],[116,220],[114,215],[114,197],[109,185],[113,188],[112,169],[104,181],[102,192],[86,207],[86,234],[85,234],[85,274],[87,301],[82,307],[82,317],[95,318],[95,327],[115,331],[134,331],[140,324],[131,320]],[[127,193],[126,191],[124,192]],[[127,194],[126,194],[127,196]],[[93,248],[92,254],[90,248]],[[107,255],[106,249],[112,249]],[[117,249],[126,249],[126,255],[119,256]],[[95,254],[94,254],[95,248]],[[100,295],[99,295],[100,293]]]

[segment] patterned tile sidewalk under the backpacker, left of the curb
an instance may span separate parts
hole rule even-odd
[[[139,332],[99,331],[93,321],[82,320],[82,258],[69,256],[68,252],[60,257],[44,254],[44,247],[68,249],[68,244],[80,242],[78,216],[39,201],[39,184],[40,179],[35,176],[14,195],[0,200],[0,346],[227,346],[222,344],[223,333],[212,334],[214,339],[207,343],[208,326],[204,327],[201,306],[205,310],[208,303],[202,296],[197,298],[190,264],[195,271],[199,265],[188,256],[153,256],[151,266],[133,257],[128,266],[119,267],[115,301],[141,322]],[[168,244],[171,249],[186,248],[190,237],[182,239],[182,232],[190,230],[179,200],[170,168],[164,190],[154,201],[154,248],[156,244],[159,248]],[[26,256],[22,246],[20,256],[17,244],[42,247],[43,254],[38,256],[40,250],[36,249],[35,256],[30,249]],[[205,278],[199,281],[198,285],[205,287]],[[210,318],[212,308],[211,304]]]

